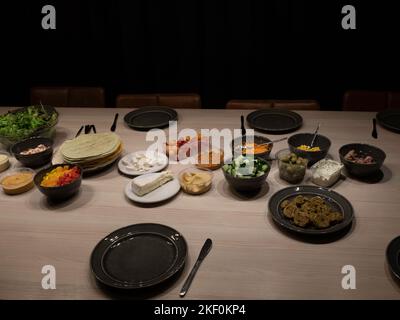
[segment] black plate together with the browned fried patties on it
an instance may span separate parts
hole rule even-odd
[[[348,227],[354,218],[353,207],[345,197],[315,186],[279,190],[268,207],[278,225],[306,235],[336,233]]]

